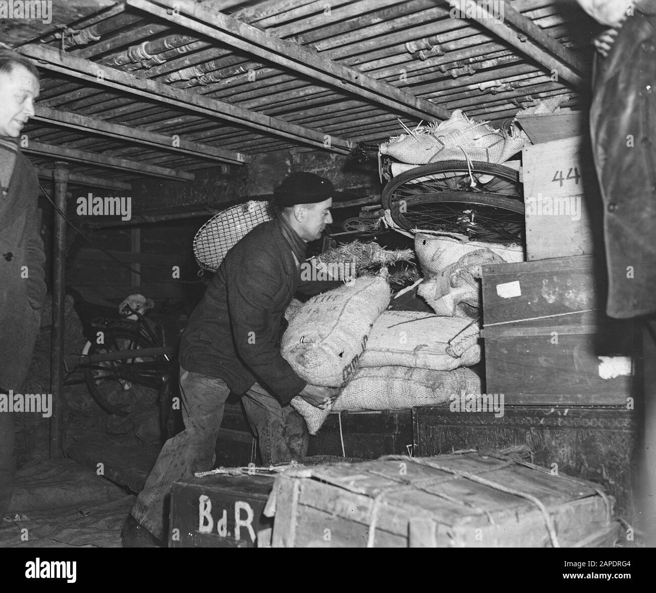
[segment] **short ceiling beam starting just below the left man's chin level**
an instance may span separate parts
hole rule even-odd
[[[49,156],[59,159],[60,161],[91,163],[91,165],[97,165],[98,167],[105,167],[107,169],[131,171],[133,174],[137,175],[163,177],[180,181],[194,180],[193,173],[176,171],[175,169],[166,169],[165,167],[157,167],[156,165],[146,165],[146,163],[138,163],[137,161],[129,161],[127,159],[117,159],[98,152],[76,150],[75,148],[66,148],[66,146],[60,146],[58,144],[45,144],[45,142],[37,142],[36,140],[30,140],[27,146],[21,150],[23,152]]]

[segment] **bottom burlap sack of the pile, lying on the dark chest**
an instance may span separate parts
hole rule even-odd
[[[472,369],[358,369],[342,389],[333,410],[400,410],[415,405],[437,405],[446,403],[463,389],[468,394],[481,392],[480,377]]]

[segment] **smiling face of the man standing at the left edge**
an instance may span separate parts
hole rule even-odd
[[[39,80],[27,68],[14,64],[11,72],[0,72],[0,136],[18,138],[34,115]]]

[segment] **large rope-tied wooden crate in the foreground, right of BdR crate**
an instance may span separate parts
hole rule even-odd
[[[287,470],[265,513],[273,547],[611,546],[596,485],[477,454]]]

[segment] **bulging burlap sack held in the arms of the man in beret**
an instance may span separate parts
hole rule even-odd
[[[382,276],[361,276],[314,296],[289,322],[282,356],[308,383],[342,386],[358,366],[373,322],[390,296]]]

